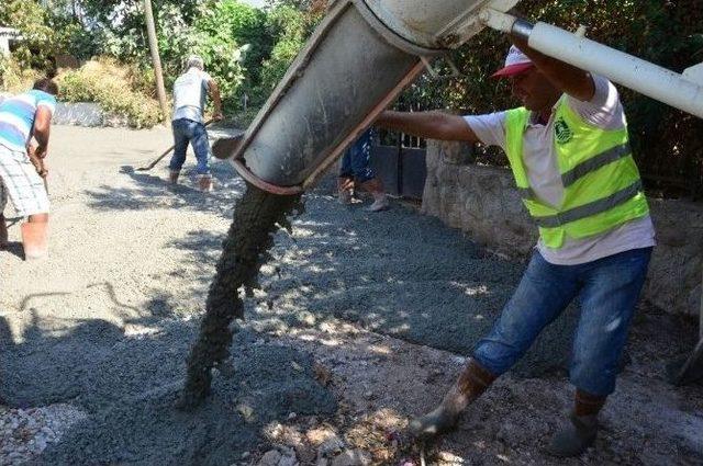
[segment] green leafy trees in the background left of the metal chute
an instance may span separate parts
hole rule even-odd
[[[80,59],[110,56],[148,70],[142,3],[9,0],[0,4],[0,24],[25,36],[13,54],[24,68],[52,73],[52,59],[68,53]],[[292,3],[276,1],[260,10],[238,0],[153,0],[167,87],[182,72],[185,58],[198,54],[220,84],[226,109],[241,106],[244,93],[250,104],[263,103],[324,11],[321,0]],[[301,10],[306,8],[312,12]]]

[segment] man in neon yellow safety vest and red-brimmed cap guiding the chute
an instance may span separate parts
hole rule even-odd
[[[460,412],[509,371],[577,296],[570,379],[574,406],[549,452],[577,456],[595,441],[598,414],[615,389],[655,231],[615,87],[513,39],[505,67],[523,106],[488,115],[384,112],[380,126],[426,138],[503,148],[539,241],[513,297],[478,342],[417,436],[450,430]]]

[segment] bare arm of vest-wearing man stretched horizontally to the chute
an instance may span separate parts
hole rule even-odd
[[[478,137],[461,116],[443,112],[386,111],[376,125],[428,139],[478,143]]]

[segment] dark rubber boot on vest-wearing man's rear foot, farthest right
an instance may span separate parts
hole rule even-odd
[[[605,397],[577,390],[574,410],[553,437],[547,451],[560,458],[579,456],[593,445],[598,436],[598,413],[605,405]]]

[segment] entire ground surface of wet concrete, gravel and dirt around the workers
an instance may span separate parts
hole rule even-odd
[[[330,180],[281,232],[247,299],[232,359],[197,412],[177,411],[220,243],[244,183],[214,166],[201,194],[134,167],[168,147],[148,132],[58,126],[51,254],[24,262],[9,213],[0,253],[0,465],[703,464],[703,386],[666,365],[693,349],[690,320],[643,305],[596,447],[546,456],[572,395],[577,310],[428,445],[397,433],[433,407],[524,266],[395,202],[339,205]],[[7,214],[7,213],[5,213]]]

